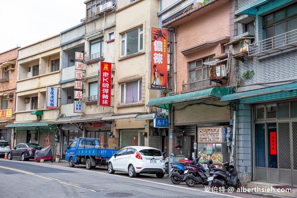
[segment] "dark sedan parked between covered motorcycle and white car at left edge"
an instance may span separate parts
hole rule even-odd
[[[27,161],[34,159],[35,151],[41,150],[42,148],[41,145],[36,143],[19,143],[8,151],[7,158],[21,158],[22,161]]]

